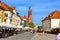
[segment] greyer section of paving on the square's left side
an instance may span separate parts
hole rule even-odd
[[[31,40],[33,36],[34,34],[30,32],[25,32],[25,33],[18,34],[16,36],[1,38],[0,40]]]

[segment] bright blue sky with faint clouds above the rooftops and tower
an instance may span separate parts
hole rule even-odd
[[[55,10],[60,10],[60,0],[1,0],[9,6],[15,6],[20,16],[28,15],[32,7],[32,20],[35,25],[42,25],[42,19]]]

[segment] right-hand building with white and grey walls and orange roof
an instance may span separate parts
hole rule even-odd
[[[52,29],[60,26],[60,11],[54,11],[42,20],[44,29]]]

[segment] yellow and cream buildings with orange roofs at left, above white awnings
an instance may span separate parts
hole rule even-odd
[[[14,6],[8,6],[0,1],[0,22],[20,26],[20,16]]]

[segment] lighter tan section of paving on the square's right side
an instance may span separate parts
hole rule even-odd
[[[36,33],[35,36],[31,40],[56,40],[55,34],[46,34],[40,35],[40,33]]]

